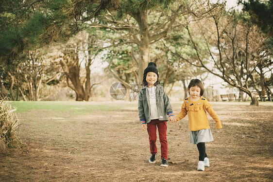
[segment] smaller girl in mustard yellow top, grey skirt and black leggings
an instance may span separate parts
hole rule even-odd
[[[209,167],[205,153],[205,142],[213,141],[206,111],[215,121],[216,129],[222,128],[222,125],[211,105],[204,97],[201,97],[204,93],[204,86],[199,79],[193,79],[189,82],[188,92],[190,97],[184,100],[181,112],[176,116],[176,121],[181,120],[188,113],[189,142],[193,145],[197,144],[199,150],[197,170],[204,171],[205,167]]]

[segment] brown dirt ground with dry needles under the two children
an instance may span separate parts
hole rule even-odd
[[[197,171],[198,150],[189,144],[188,118],[167,128],[169,167],[158,156],[150,164],[147,131],[140,127],[137,103],[117,103],[115,111],[73,115],[69,111],[21,113],[17,149],[0,153],[1,182],[272,182],[273,103],[211,103],[223,128],[206,143],[210,167]],[[174,114],[181,103],[173,103]]]

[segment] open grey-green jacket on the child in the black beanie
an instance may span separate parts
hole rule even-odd
[[[168,121],[169,120],[168,115],[169,117],[173,116],[169,97],[166,94],[164,88],[160,85],[156,86],[155,95],[158,120]],[[139,91],[138,116],[139,120],[141,121],[141,124],[144,123],[148,124],[151,121],[151,107],[147,86],[143,87]]]

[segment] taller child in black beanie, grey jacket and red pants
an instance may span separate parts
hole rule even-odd
[[[138,116],[141,121],[142,129],[146,129],[149,134],[151,157],[150,163],[155,163],[157,148],[156,142],[156,127],[158,128],[159,141],[161,144],[161,165],[168,167],[168,144],[167,144],[167,123],[168,116],[172,122],[175,122],[175,117],[172,114],[169,97],[160,86],[158,79],[159,73],[156,69],[156,64],[150,62],[144,70],[143,85],[139,91],[138,97]],[[168,114],[168,116],[167,116]],[[147,125],[147,126],[146,126]]]

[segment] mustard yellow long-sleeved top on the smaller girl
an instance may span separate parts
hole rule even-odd
[[[220,119],[212,109],[211,105],[204,97],[200,97],[198,101],[192,102],[189,97],[184,100],[181,107],[181,112],[176,116],[177,121],[184,118],[188,113],[188,128],[190,131],[198,131],[208,129],[208,120],[206,111],[213,118],[216,124],[216,129],[222,128]]]

